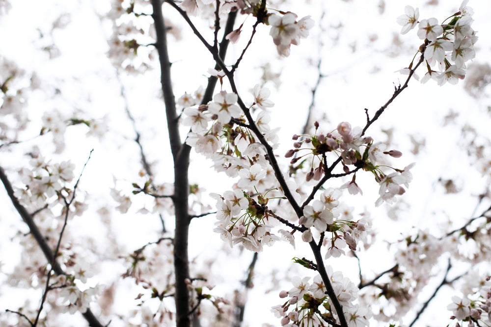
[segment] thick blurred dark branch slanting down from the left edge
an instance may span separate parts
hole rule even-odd
[[[5,175],[5,172],[2,167],[0,167],[0,180],[3,183],[5,190],[7,191],[7,195],[10,198],[10,201],[12,201],[12,204],[14,205],[15,209],[21,216],[22,220],[29,227],[31,235],[36,240],[37,244],[41,248],[41,251],[43,251],[44,256],[46,257],[48,262],[53,263],[52,264],[53,271],[56,273],[56,275],[65,275],[65,272],[63,271],[63,269],[61,269],[60,265],[55,260],[55,255],[51,250],[50,246],[48,245],[48,242],[44,238],[43,234],[41,234],[39,228],[34,223],[34,219],[32,215],[27,212],[26,208],[14,196],[14,190],[12,188],[12,184],[10,184],[10,181]],[[92,313],[92,311],[90,311],[90,309],[87,309],[87,311],[85,311],[85,313],[82,313],[82,315],[85,318],[85,320],[89,323],[90,327],[103,327],[103,325],[94,316],[94,314]]]

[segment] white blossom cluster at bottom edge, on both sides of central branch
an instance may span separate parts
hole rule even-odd
[[[337,299],[343,306],[343,313],[350,327],[368,326],[368,319],[372,317],[366,308],[355,304],[358,297],[358,288],[339,271],[333,272],[331,266],[326,266],[327,276],[334,289]],[[326,295],[326,286],[320,275],[314,277],[292,278],[293,288],[281,291],[280,298],[289,298],[282,305],[273,306],[271,311],[277,318],[281,318],[281,326],[330,326],[336,323],[337,315],[332,310],[331,299]],[[324,311],[324,312],[323,312]]]

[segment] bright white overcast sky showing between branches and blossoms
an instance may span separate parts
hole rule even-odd
[[[53,156],[53,160],[67,160],[70,158],[77,165],[76,175],[80,172],[90,149],[95,151],[82,176],[81,189],[93,199],[101,198],[100,205],[109,199],[109,187],[113,186],[113,176],[118,179],[117,186],[131,192],[131,183],[139,181],[137,172],[140,169],[139,155],[136,144],[128,141],[134,137],[134,131],[124,112],[124,102],[120,97],[119,85],[115,82],[115,71],[105,57],[108,50],[105,35],[109,36],[109,24],[102,24],[95,11],[102,14],[109,9],[109,5],[103,1],[12,1],[12,9],[6,16],[0,16],[0,51],[5,57],[15,60],[20,67],[27,72],[36,71],[39,78],[43,80],[43,87],[53,89],[60,88],[61,97],[45,99],[42,92],[32,94],[29,100],[29,115],[32,117],[32,127],[22,134],[21,139],[30,139],[38,133],[41,123],[38,118],[45,111],[58,108],[67,114],[73,108],[79,108],[84,112],[81,118],[103,118],[108,115],[111,131],[104,142],[99,143],[95,138],[85,137],[86,127],[75,126],[69,128],[69,139],[67,141],[67,152],[61,156]],[[303,1],[301,1],[303,3]],[[320,1],[308,1],[310,4],[318,4]],[[458,11],[459,0],[440,1],[438,5],[426,5],[427,1],[386,1],[385,10],[379,13],[378,1],[322,1],[324,2],[324,20],[319,30],[319,18],[321,11],[312,12],[310,4],[298,5],[288,9],[299,17],[311,15],[316,21],[311,36],[302,40],[300,46],[292,47],[292,54],[285,59],[278,59],[273,42],[269,36],[269,27],[260,26],[256,34],[256,42],[246,53],[245,59],[239,69],[237,81],[242,96],[246,102],[251,102],[252,96],[248,90],[260,82],[261,72],[258,66],[270,62],[273,72],[281,71],[283,84],[276,89],[272,83],[267,84],[272,90],[271,100],[275,103],[272,110],[272,128],[281,126],[279,133],[281,139],[278,154],[282,155],[293,144],[291,135],[300,132],[306,110],[311,101],[310,90],[317,78],[317,60],[322,58],[321,72],[327,75],[319,86],[315,99],[314,117],[326,115],[328,123],[323,123],[326,131],[334,129],[341,121],[348,121],[352,126],[363,126],[366,120],[364,108],[368,108],[371,116],[387,101],[393,92],[393,84],[404,82],[405,76],[394,73],[394,71],[407,67],[409,62],[421,44],[416,36],[416,29],[407,35],[400,35],[401,26],[397,25],[396,18],[404,13],[404,6],[409,4],[419,7],[420,20],[436,17],[438,22]],[[300,1],[299,1],[300,3]],[[475,62],[489,62],[491,39],[486,26],[491,21],[491,4],[486,0],[471,0],[468,4],[474,9],[473,28],[479,31],[479,41],[476,44]],[[64,29],[57,29],[53,33],[53,41],[50,36],[39,39],[37,27],[47,35],[51,22],[59,16],[60,12],[69,13],[67,25]],[[175,11],[167,7],[164,17],[171,22],[180,25],[181,19]],[[237,24],[242,22],[239,17]],[[197,19],[193,19],[197,22]],[[247,40],[247,24],[252,24],[253,19],[248,18],[244,27],[241,41],[237,45],[230,45],[227,58],[236,58],[243,49]],[[334,28],[342,24],[341,28]],[[209,30],[211,35],[211,30]],[[339,40],[333,37],[338,35]],[[375,41],[370,37],[376,35]],[[393,43],[394,35],[398,35],[403,45],[397,48]],[[169,48],[172,66],[173,83],[176,98],[184,92],[194,92],[200,85],[206,83],[206,71],[212,67],[210,55],[206,53],[203,46],[191,35],[189,29],[183,26],[183,42],[176,44],[172,37]],[[60,56],[54,60],[48,60],[46,52],[39,48],[54,42],[59,48]],[[321,46],[321,42],[323,46]],[[355,51],[352,49],[355,47]],[[389,53],[395,52],[397,56]],[[419,58],[419,56],[417,56]],[[416,61],[417,61],[416,58]],[[424,75],[424,68],[418,70],[420,76]],[[168,141],[165,137],[166,125],[163,103],[160,95],[160,73],[158,70],[150,71],[145,75],[123,76],[125,89],[127,90],[130,110],[137,119],[139,131],[150,160],[158,160],[154,167],[156,181],[170,182],[172,173],[169,168],[172,165]],[[401,238],[401,231],[408,230],[413,226],[428,226],[435,228],[434,221],[448,217],[455,221],[455,226],[462,225],[465,218],[472,215],[475,206],[475,198],[465,194],[475,195],[484,190],[487,181],[482,180],[478,174],[467,174],[471,163],[465,157],[465,149],[459,147],[460,132],[458,126],[465,123],[478,128],[479,133],[491,136],[487,106],[489,99],[474,100],[463,90],[463,81],[457,86],[444,85],[439,87],[436,82],[430,80],[421,85],[413,80],[409,88],[405,90],[384,112],[367,134],[374,137],[376,141],[386,141],[386,135],[381,129],[394,128],[391,149],[397,149],[404,153],[400,159],[392,160],[395,167],[403,168],[410,162],[416,161],[414,168],[414,180],[406,195],[401,198],[408,204],[410,210],[401,212],[399,220],[393,222],[384,218],[386,207],[374,209],[377,188],[373,178],[365,174],[358,174],[359,184],[365,196],[343,195],[343,200],[349,206],[356,207],[355,214],[367,208],[372,212],[374,227],[377,231],[384,233],[381,238],[396,241]],[[227,83],[224,89],[230,91]],[[460,113],[456,126],[441,128],[443,117],[453,109]],[[157,123],[156,123],[157,122]],[[183,129],[184,131],[185,129]],[[184,135],[184,134],[183,134]],[[410,154],[411,144],[409,136],[426,138],[426,147],[423,155],[415,159]],[[125,139],[127,138],[127,139]],[[4,167],[15,168],[24,166],[27,159],[20,157],[21,149],[29,149],[34,144],[41,144],[48,149],[45,155],[51,155],[50,136],[37,138],[27,142],[25,145],[16,146],[13,153],[2,151],[0,164]],[[43,149],[43,147],[41,147]],[[455,152],[462,153],[455,159]],[[128,155],[131,153],[131,155]],[[130,159],[128,159],[130,158]],[[451,159],[452,158],[452,159]],[[450,159],[450,160],[449,160]],[[214,173],[208,169],[211,162],[206,161],[198,155],[192,155],[190,170],[190,181],[198,182],[206,188],[205,194],[216,192],[222,194],[229,188],[230,182],[225,176]],[[285,161],[287,163],[288,161]],[[465,173],[465,175],[464,175]],[[441,197],[442,188],[435,183],[438,177],[455,178],[463,192],[460,194]],[[131,179],[133,178],[133,179]],[[357,181],[358,181],[357,179]],[[339,186],[344,181],[335,180],[333,186]],[[373,194],[370,194],[372,190]],[[143,203],[143,201],[142,201]],[[210,203],[213,203],[210,201]],[[138,204],[136,204],[137,207]],[[488,204],[489,205],[489,204]],[[4,263],[2,268],[9,271],[16,262],[12,257],[12,245],[10,237],[16,230],[26,231],[26,227],[20,222],[18,215],[10,209],[10,203],[4,194],[0,192],[0,207],[8,208],[2,210],[0,230],[5,237],[0,238],[0,259]],[[96,208],[95,208],[96,209]],[[95,210],[94,209],[94,210]],[[8,211],[7,211],[8,210]],[[117,217],[114,224],[118,230],[121,240],[125,240],[128,252],[132,252],[142,244],[152,241],[158,237],[160,222],[153,215],[133,214]],[[479,210],[478,210],[479,212]],[[98,217],[84,216],[83,220],[74,220],[70,227],[74,230],[95,231],[98,225]],[[119,224],[118,224],[119,223]],[[202,237],[202,230],[213,228],[214,217],[201,218],[191,223],[190,254],[192,256],[204,255],[214,256],[221,247],[218,234],[210,232],[206,238]],[[172,221],[166,221],[167,227],[172,227]],[[211,236],[210,236],[211,235]],[[101,237],[104,237],[101,235]],[[300,243],[300,239],[297,241]],[[299,246],[299,248],[301,248]],[[15,249],[15,248],[14,248]],[[213,249],[213,250],[203,250]],[[382,245],[380,248],[372,249],[375,258],[381,257],[380,253],[386,251]],[[222,253],[222,252],[219,252]],[[270,322],[279,325],[279,321],[269,312],[272,305],[282,303],[277,297],[277,290],[266,297],[264,289],[271,285],[268,272],[271,267],[278,267],[278,277],[288,275],[285,269],[290,268],[290,259],[293,256],[307,256],[308,252],[292,252],[291,247],[286,244],[278,244],[272,249],[267,248],[260,253],[256,265],[255,287],[250,292],[250,298],[246,305],[246,321],[249,326],[260,326],[260,323]],[[217,286],[216,292],[231,292],[239,287],[238,281],[244,278],[244,272],[252,253],[247,253],[241,258],[229,259],[230,273],[226,278],[230,282],[224,286]],[[362,256],[363,257],[363,256]],[[390,259],[390,254],[387,254]],[[198,260],[199,256],[198,256]],[[342,270],[345,276],[356,280],[357,269],[352,260],[328,260],[334,266],[334,270]],[[374,255],[368,253],[362,262],[365,263],[366,271],[380,272],[392,266],[392,261],[374,261]],[[227,262],[224,260],[223,262]],[[228,266],[227,266],[228,267]],[[232,267],[236,268],[235,270]],[[350,267],[346,269],[346,267]],[[228,269],[215,267],[214,269]],[[296,269],[296,268],[294,268]],[[299,274],[305,272],[297,269]],[[116,272],[116,277],[120,272]],[[105,272],[108,280],[111,278]],[[0,275],[0,282],[3,280]],[[220,277],[222,278],[222,277]],[[94,283],[104,281],[94,280]],[[221,280],[217,281],[217,284]],[[282,284],[285,289],[291,288],[288,283]],[[23,303],[25,298],[12,299],[11,293],[0,291],[0,309],[10,307],[11,303],[18,301]],[[37,303],[38,297],[33,298]],[[442,297],[435,302],[450,302],[450,297]],[[126,303],[128,304],[128,303]],[[121,302],[121,305],[126,305]],[[438,303],[437,303],[438,304]],[[435,303],[432,303],[435,305]],[[128,306],[131,306],[128,304]],[[436,317],[434,308],[430,307],[426,315],[419,322],[419,326],[433,324],[440,326],[441,317]],[[121,307],[123,310],[123,307]],[[441,310],[441,309],[440,309]],[[443,319],[447,319],[448,312],[443,312]],[[408,315],[408,321],[412,316]],[[446,320],[445,325],[446,325]],[[83,326],[83,324],[81,325]],[[111,324],[112,326],[112,324]],[[114,322],[114,326],[116,322]]]

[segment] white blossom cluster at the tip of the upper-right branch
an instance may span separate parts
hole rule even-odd
[[[438,24],[436,18],[419,21],[419,10],[406,6],[405,15],[397,19],[397,23],[403,25],[402,34],[418,25],[417,35],[425,40],[420,48],[426,61],[428,72],[421,79],[425,83],[434,78],[438,85],[446,82],[457,84],[459,79],[465,76],[465,62],[475,57],[474,44],[477,42],[476,32],[472,29],[472,8],[466,6],[468,0],[464,0],[459,11],[447,18],[442,24]],[[445,23],[450,20],[448,23]],[[438,71],[432,69],[437,64]],[[409,69],[401,70],[406,74]],[[414,75],[416,78],[417,75]]]

